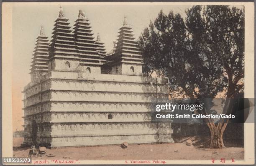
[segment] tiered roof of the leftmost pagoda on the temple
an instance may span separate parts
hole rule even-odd
[[[48,72],[49,44],[48,37],[44,33],[44,27],[41,27],[39,36],[36,38],[36,47],[33,51],[31,73],[34,71]]]

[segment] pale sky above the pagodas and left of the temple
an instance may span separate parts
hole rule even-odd
[[[74,25],[78,11],[84,10],[92,26],[92,32],[96,37],[100,33],[102,42],[105,43],[106,51],[113,48],[113,41],[117,39],[118,28],[123,24],[126,15],[128,24],[133,27],[136,40],[143,29],[154,20],[162,9],[168,14],[170,10],[180,13],[185,17],[185,10],[190,5],[173,5],[172,3],[131,3],[131,2],[108,2],[108,3],[65,3],[65,2],[23,2],[13,5],[13,113],[22,123],[23,111],[21,91],[30,82],[30,65],[36,37],[41,25],[44,26],[46,35],[51,39],[54,21],[59,14],[59,6],[63,7],[65,16],[70,25]],[[19,102],[20,101],[20,102]],[[17,114],[16,114],[17,113]],[[18,122],[16,121],[16,122]],[[13,126],[16,129],[16,126]],[[22,127],[18,127],[22,129]]]

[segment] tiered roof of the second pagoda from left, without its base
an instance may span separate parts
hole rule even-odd
[[[79,59],[74,34],[68,21],[60,7],[59,17],[55,20],[54,32],[52,32],[50,59],[52,57]]]

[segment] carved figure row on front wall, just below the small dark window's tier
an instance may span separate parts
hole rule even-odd
[[[171,129],[170,123],[156,123],[151,122],[120,122],[120,123],[59,123],[52,124],[51,131],[67,131],[67,130],[121,130],[121,129],[146,129],[152,130],[163,128],[163,129]],[[124,131],[125,132],[125,131]],[[137,131],[134,131],[136,133]],[[86,133],[85,133],[86,134]],[[108,133],[106,133],[108,134]]]

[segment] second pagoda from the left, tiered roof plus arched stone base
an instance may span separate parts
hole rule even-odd
[[[60,7],[59,17],[55,20],[54,32],[51,36],[49,71],[77,71],[80,58],[69,24],[69,19],[65,17],[63,9]],[[67,59],[72,64],[67,62]]]

